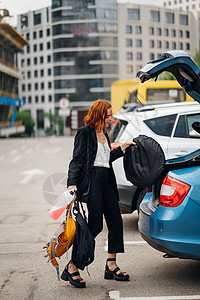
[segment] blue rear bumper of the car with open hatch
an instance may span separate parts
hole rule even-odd
[[[193,211],[192,206],[196,204],[193,201],[187,202],[190,202],[187,204]],[[199,207],[196,207],[196,211],[199,213]],[[159,206],[155,210],[152,209],[150,201],[143,201],[140,205],[138,228],[142,238],[156,250],[170,256],[200,260],[198,223],[192,224],[185,217],[184,206],[175,210]]]

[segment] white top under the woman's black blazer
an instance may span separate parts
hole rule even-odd
[[[106,140],[105,144],[98,142],[97,154],[94,161],[95,167],[105,167],[110,168],[110,147],[108,141]]]

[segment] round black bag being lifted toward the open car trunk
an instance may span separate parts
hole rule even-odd
[[[138,187],[151,186],[164,170],[164,152],[151,137],[139,135],[133,141],[136,145],[126,148],[124,154],[126,179]]]

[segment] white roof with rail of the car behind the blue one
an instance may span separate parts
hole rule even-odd
[[[169,104],[152,104],[139,107],[133,112],[118,112],[114,117],[117,119],[130,121],[134,116],[142,119],[150,119],[165,115],[181,114],[181,113],[198,113],[200,112],[200,104],[194,102],[176,102]]]

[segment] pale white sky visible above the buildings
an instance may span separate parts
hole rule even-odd
[[[131,2],[138,4],[159,5],[161,0],[118,0],[118,2]],[[9,10],[12,18],[5,18],[4,21],[12,26],[17,25],[17,15],[26,13],[30,10],[36,10],[51,5],[51,0],[0,0],[0,8]]]

